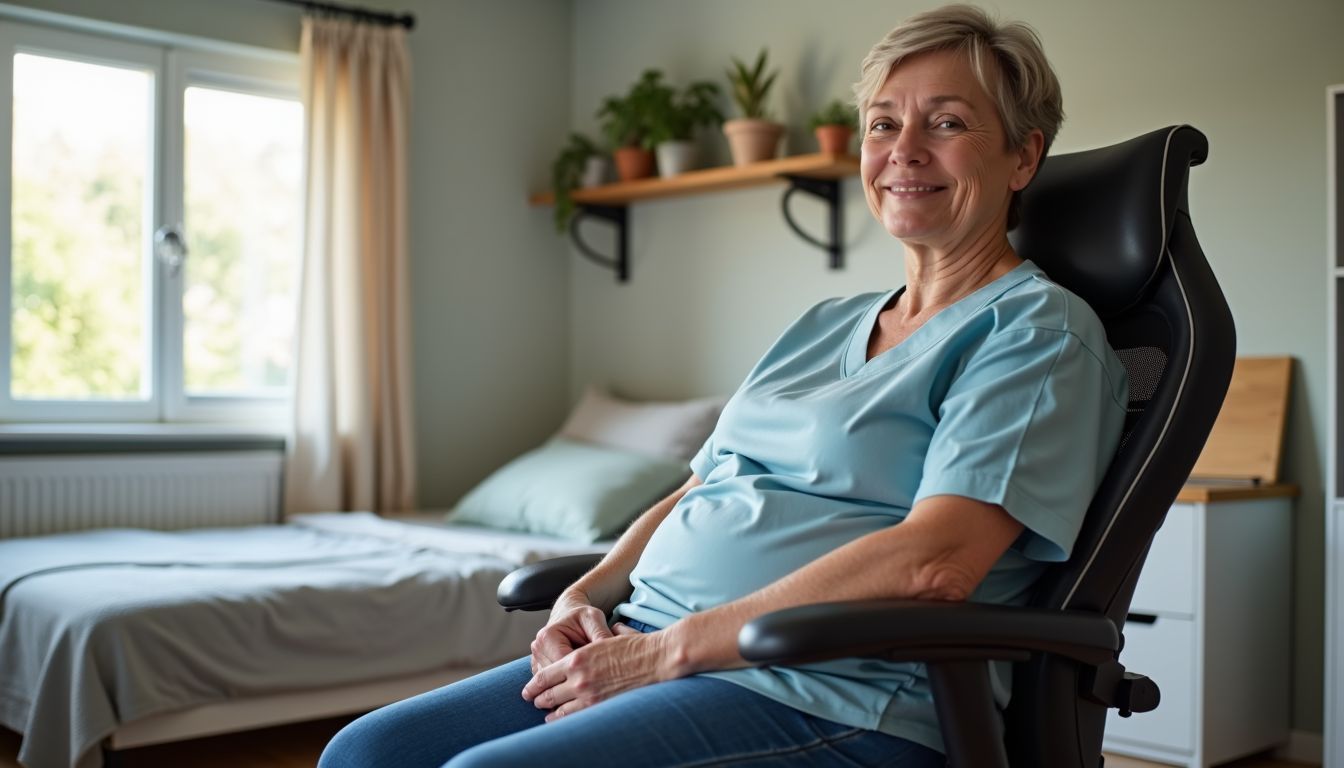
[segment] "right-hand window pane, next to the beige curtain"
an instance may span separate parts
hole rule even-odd
[[[284,394],[302,242],[302,117],[294,100],[187,89],[188,394]]]

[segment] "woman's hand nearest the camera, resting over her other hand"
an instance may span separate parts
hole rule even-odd
[[[613,627],[614,636],[577,648],[560,660],[535,671],[523,686],[523,698],[538,709],[550,709],[551,722],[587,709],[613,695],[681,677],[667,651],[661,632],[638,632],[625,624]],[[535,656],[534,656],[535,659]]]

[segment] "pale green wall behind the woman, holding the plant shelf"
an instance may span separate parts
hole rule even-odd
[[[778,116],[798,125],[848,93],[859,61],[913,0],[577,0],[571,125],[649,66],[673,82],[723,82],[730,55],[769,46]],[[1210,139],[1191,208],[1238,321],[1241,354],[1298,360],[1286,475],[1296,508],[1293,726],[1321,730],[1325,449],[1325,86],[1344,82],[1344,3],[1296,0],[1003,0],[1034,24],[1064,87],[1056,151],[1173,122]],[[722,160],[723,141],[711,152]],[[789,152],[810,152],[797,129]],[[797,312],[898,285],[899,245],[844,184],[848,265],[828,272],[778,214],[778,190],[632,208],[633,278],[574,258],[571,386],[642,395],[728,393]],[[802,202],[797,203],[800,211]],[[816,222],[820,227],[820,221]],[[820,231],[820,229],[817,230]],[[594,233],[597,233],[594,227]],[[601,235],[594,234],[594,242]],[[1249,670],[1247,674],[1254,674]]]

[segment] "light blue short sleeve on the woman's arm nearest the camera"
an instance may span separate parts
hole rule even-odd
[[[1027,527],[1013,545],[1023,555],[1067,560],[1120,440],[1114,393],[1105,362],[1074,334],[1023,328],[988,340],[938,404],[915,502],[1000,504]]]

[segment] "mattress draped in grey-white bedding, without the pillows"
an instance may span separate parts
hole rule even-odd
[[[366,512],[0,541],[0,722],[24,765],[95,767],[152,714],[508,660],[546,616],[500,578],[606,546]]]

